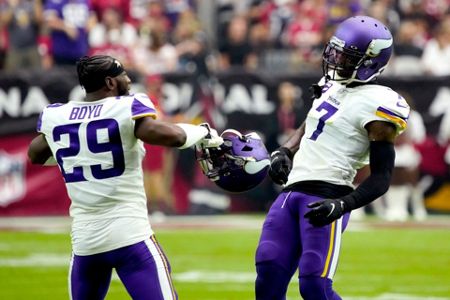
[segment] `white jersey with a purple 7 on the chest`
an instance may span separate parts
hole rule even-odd
[[[370,142],[364,126],[372,121],[391,122],[400,134],[408,115],[405,99],[388,87],[347,88],[327,82],[306,117],[305,135],[286,185],[320,180],[353,187],[356,171],[369,163]]]

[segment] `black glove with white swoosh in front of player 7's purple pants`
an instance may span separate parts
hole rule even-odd
[[[308,204],[311,208],[305,214],[315,227],[325,226],[339,219],[345,213],[344,201],[341,199],[325,199]]]

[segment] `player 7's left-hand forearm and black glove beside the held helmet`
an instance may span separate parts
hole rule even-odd
[[[270,154],[269,176],[276,184],[285,184],[292,169],[292,158],[305,134],[303,123],[280,148]]]

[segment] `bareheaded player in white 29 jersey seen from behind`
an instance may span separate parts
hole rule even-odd
[[[28,151],[33,163],[56,160],[71,199],[70,298],[104,299],[115,268],[133,299],[177,299],[148,220],[143,142],[184,149],[223,140],[209,126],[156,120],[113,57],[83,57],[77,72],[85,101],[46,107]]]

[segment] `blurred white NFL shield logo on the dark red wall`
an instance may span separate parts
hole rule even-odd
[[[7,206],[25,195],[25,160],[22,155],[0,151],[0,206]]]

